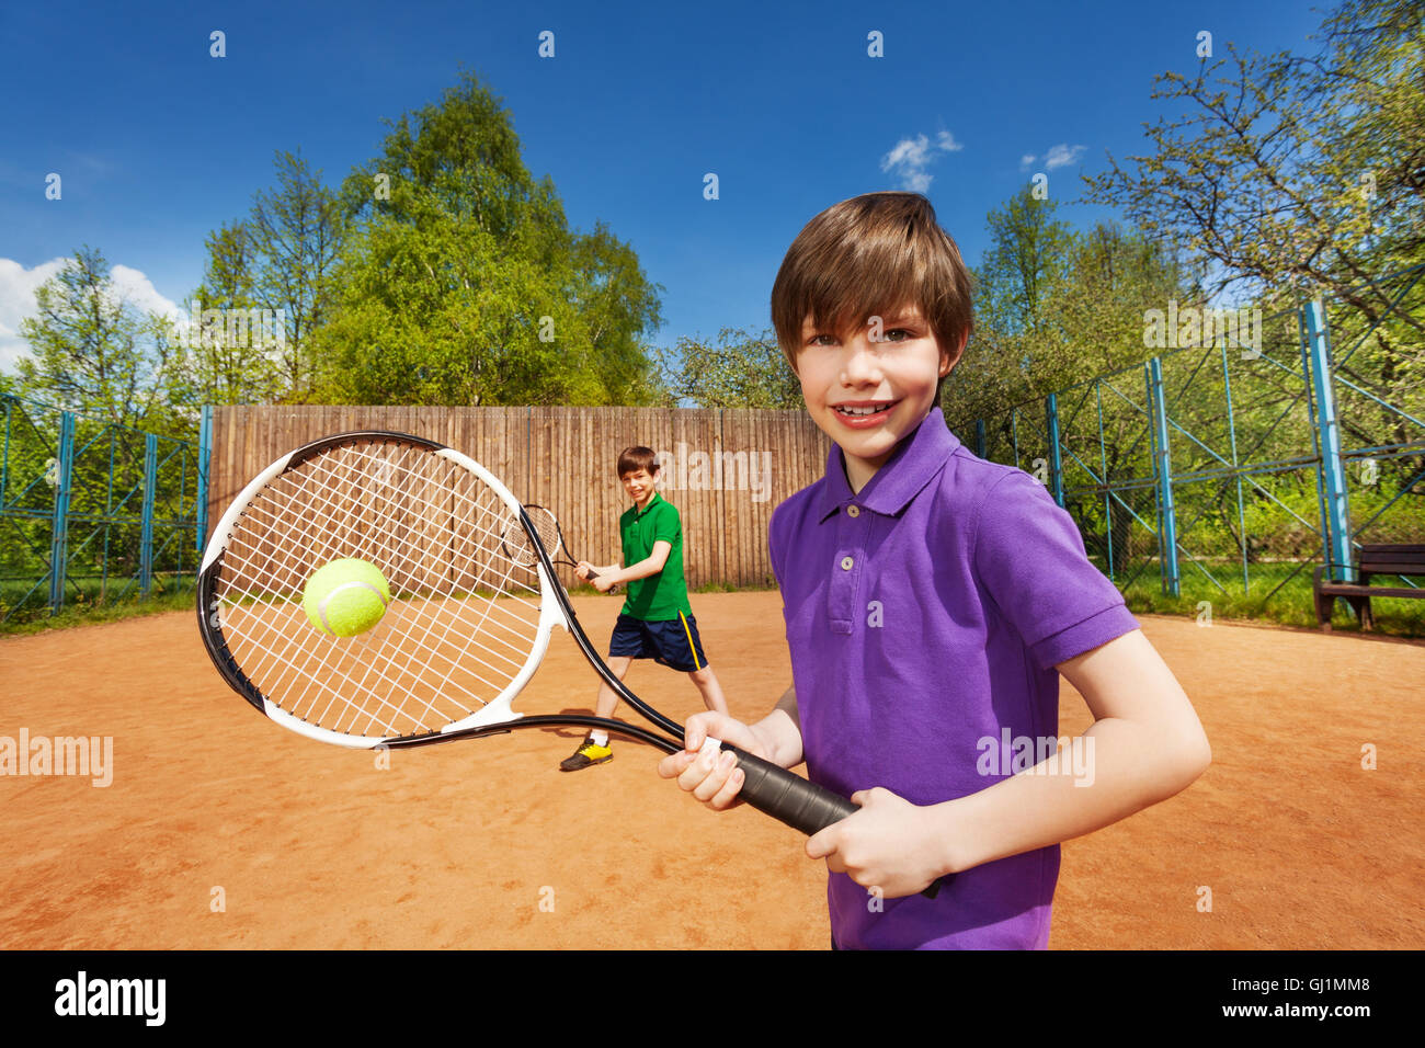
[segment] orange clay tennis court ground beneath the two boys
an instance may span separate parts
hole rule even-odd
[[[600,643],[620,603],[576,599]],[[693,605],[732,713],[758,716],[789,680],[777,593]],[[1140,622],[1213,766],[1064,846],[1050,947],[1425,947],[1425,644]],[[4,948],[828,948],[805,838],[701,808],[650,747],[561,774],[580,733],[532,730],[382,770],[255,713],[191,615],[0,639],[0,734],[114,740],[108,787],[0,779]],[[680,720],[700,709],[681,674],[638,663],[628,683]],[[589,710],[596,686],[557,633],[516,707]]]

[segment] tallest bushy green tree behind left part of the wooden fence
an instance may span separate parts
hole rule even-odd
[[[640,404],[656,285],[603,225],[573,234],[510,117],[466,76],[390,124],[341,194],[355,224],[318,337],[322,399]]]

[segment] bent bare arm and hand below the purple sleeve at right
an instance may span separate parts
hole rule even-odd
[[[812,857],[888,897],[935,877],[1080,837],[1167,800],[1211,761],[1193,704],[1140,630],[1057,667],[1094,723],[1040,766],[979,793],[916,807],[889,790],[807,841]],[[1082,749],[1074,749],[1082,747]]]

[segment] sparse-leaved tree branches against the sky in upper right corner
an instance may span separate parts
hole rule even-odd
[[[1163,73],[1153,98],[1188,111],[1086,183],[1208,261],[1214,295],[1301,287],[1378,319],[1368,281],[1425,258],[1425,21],[1411,0],[1348,0],[1318,38],[1315,56],[1228,43],[1196,76]]]

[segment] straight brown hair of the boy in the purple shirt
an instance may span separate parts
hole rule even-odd
[[[915,305],[940,349],[958,361],[962,339],[975,329],[973,284],[929,200],[866,192],[834,204],[797,234],[772,284],[772,327],[797,371],[808,317],[819,332],[848,334],[868,317]]]

